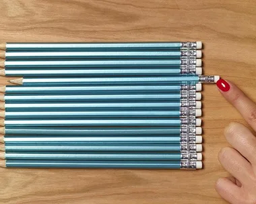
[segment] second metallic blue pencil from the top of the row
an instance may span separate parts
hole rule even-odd
[[[2,54],[3,55],[3,54]],[[92,59],[169,59],[169,58],[201,58],[201,50],[181,51],[119,51],[119,52],[5,52],[5,60],[92,60]]]

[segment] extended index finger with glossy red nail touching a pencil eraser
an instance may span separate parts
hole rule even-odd
[[[256,105],[249,99],[243,91],[238,89],[233,83],[220,79],[217,81],[220,93],[243,115],[247,123],[256,131]]]

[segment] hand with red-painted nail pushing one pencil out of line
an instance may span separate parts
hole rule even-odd
[[[230,82],[220,79],[217,86],[256,131],[255,103]],[[232,148],[222,148],[218,158],[232,176],[219,178],[216,191],[230,203],[256,203],[256,137],[241,123],[230,123],[224,134]]]

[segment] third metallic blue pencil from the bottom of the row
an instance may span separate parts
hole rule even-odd
[[[201,152],[201,144],[0,144],[0,150],[6,152]]]

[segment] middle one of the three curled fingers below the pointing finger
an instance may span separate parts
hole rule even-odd
[[[252,179],[251,164],[243,158],[243,156],[233,148],[226,147],[220,150],[218,155],[220,164],[230,173],[234,178],[244,185]]]

